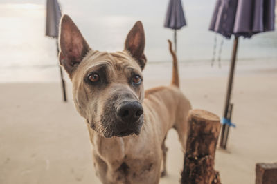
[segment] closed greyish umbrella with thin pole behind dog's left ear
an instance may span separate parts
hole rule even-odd
[[[59,36],[59,24],[62,17],[60,5],[57,0],[47,0],[46,4],[46,36],[57,39]],[[57,47],[57,53],[59,48]],[[66,90],[64,76],[62,74],[62,67],[60,66],[60,76],[62,81],[62,92],[64,95],[64,101],[66,101]]]

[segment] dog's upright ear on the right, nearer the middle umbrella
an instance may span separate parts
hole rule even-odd
[[[129,34],[127,35],[125,41],[125,50],[129,51],[129,53],[132,54],[132,57],[136,59],[141,67],[141,70],[143,70],[146,63],[144,47],[145,36],[143,24],[141,23],[141,21],[137,21],[132,30],[130,30]]]

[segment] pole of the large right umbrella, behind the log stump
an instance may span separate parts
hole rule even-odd
[[[225,109],[224,109],[224,118],[226,119],[231,119],[231,110],[233,107],[233,105],[230,105],[230,99],[231,99],[231,91],[232,91],[232,84],[233,84],[233,74],[235,71],[235,61],[237,58],[238,39],[239,37],[235,37],[235,40],[233,42],[233,54],[232,54],[232,60],[231,60],[232,63],[231,63],[231,69],[229,72],[229,83],[227,87]],[[220,147],[222,147],[223,149],[226,149],[228,135],[229,135],[229,125],[224,124],[222,126],[222,132],[220,136]]]

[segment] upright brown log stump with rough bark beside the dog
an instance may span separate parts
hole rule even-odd
[[[205,110],[191,110],[181,184],[220,183],[214,170],[215,150],[220,134],[220,118]]]

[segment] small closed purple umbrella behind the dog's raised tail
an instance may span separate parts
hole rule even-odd
[[[185,25],[186,19],[181,0],[170,0],[168,3],[168,11],[166,12],[164,27],[174,30],[175,52],[177,52],[177,30]]]

